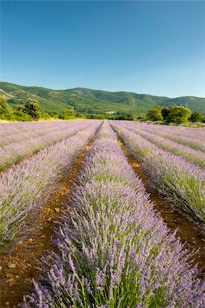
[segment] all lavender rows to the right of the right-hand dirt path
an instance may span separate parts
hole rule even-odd
[[[204,228],[205,130],[165,126],[156,129],[156,125],[130,123],[111,123],[111,126],[130,153],[143,162],[158,192],[171,198]],[[186,140],[186,145],[180,144],[181,140]],[[197,144],[201,144],[200,149]]]

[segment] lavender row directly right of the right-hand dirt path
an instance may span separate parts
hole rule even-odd
[[[205,227],[205,170],[182,157],[159,149],[154,143],[130,130],[130,125],[111,123],[130,153],[143,162],[150,183],[160,194],[171,198],[189,216]]]

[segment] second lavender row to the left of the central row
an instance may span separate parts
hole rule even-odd
[[[16,136],[16,142],[11,142],[0,147],[0,171],[21,161],[21,159],[40,151],[40,149],[45,148],[45,146],[49,146],[63,140],[64,138],[72,136],[76,129],[82,130],[88,127],[88,125],[88,120],[68,121],[64,125],[62,125],[61,122],[58,122],[58,125],[49,127],[47,125],[45,125],[45,127],[40,125],[40,130],[39,127],[36,126],[37,131],[27,132],[23,140],[21,140],[21,134]],[[31,125],[30,128],[32,127],[33,126]],[[14,137],[15,134],[12,138]]]

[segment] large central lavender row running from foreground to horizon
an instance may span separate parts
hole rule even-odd
[[[27,307],[204,307],[191,255],[154,211],[116,134],[104,123],[42,259]]]

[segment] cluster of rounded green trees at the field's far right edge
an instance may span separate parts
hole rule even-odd
[[[147,112],[146,119],[154,122],[163,121],[164,124],[205,123],[203,114],[191,112],[189,108],[182,106],[163,107],[157,105]]]

